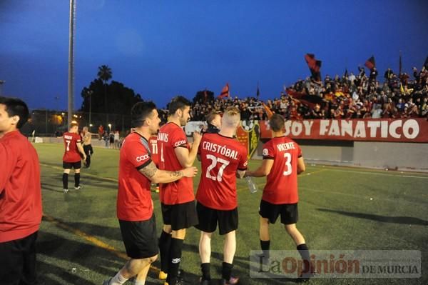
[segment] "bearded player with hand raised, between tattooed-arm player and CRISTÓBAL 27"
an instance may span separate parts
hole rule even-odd
[[[190,119],[190,104],[183,96],[177,96],[170,101],[168,123],[163,125],[158,133],[160,169],[177,171],[192,166],[195,161],[201,135],[198,132],[193,133],[193,144],[190,145],[182,129]],[[181,284],[178,268],[185,230],[198,224],[193,179],[182,178],[173,183],[161,184],[159,196],[163,216],[163,231],[159,238],[161,253],[159,279],[166,277],[165,284],[169,285]],[[168,276],[165,276],[166,274]]]

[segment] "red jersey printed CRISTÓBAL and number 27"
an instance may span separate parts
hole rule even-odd
[[[198,153],[203,170],[196,199],[211,209],[235,209],[236,170],[247,169],[247,149],[236,139],[207,133],[200,141]]]

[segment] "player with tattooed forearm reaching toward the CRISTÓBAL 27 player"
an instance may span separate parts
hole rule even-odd
[[[131,111],[135,131],[126,136],[120,151],[117,215],[126,254],[131,258],[116,276],[103,285],[121,285],[136,276],[135,285],[144,285],[150,264],[158,256],[158,236],[151,199],[151,182],[170,183],[193,177],[190,166],[177,171],[159,170],[151,159],[148,139],[159,129],[158,111],[153,102],[139,102]]]

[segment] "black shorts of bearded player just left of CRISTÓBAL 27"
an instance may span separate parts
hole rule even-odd
[[[173,231],[188,229],[198,224],[195,201],[175,205],[161,204],[161,208],[163,224],[171,225]]]

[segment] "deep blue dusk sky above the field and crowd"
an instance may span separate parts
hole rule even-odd
[[[76,0],[75,109],[81,90],[108,65],[159,107],[208,88],[233,96],[279,96],[310,75],[342,75],[374,55],[387,67],[420,69],[428,56],[428,1]],[[2,94],[30,108],[66,109],[68,0],[0,0]],[[59,99],[55,99],[58,96]]]

